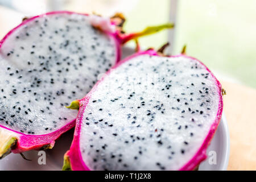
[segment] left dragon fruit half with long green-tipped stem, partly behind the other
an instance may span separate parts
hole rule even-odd
[[[123,34],[123,20],[56,11],[24,20],[1,40],[0,159],[52,148],[75,126],[77,111],[65,106],[119,61],[121,45],[172,27]]]

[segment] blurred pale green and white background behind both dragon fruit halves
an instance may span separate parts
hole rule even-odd
[[[6,20],[0,12],[0,22],[5,24],[2,32],[7,32],[21,16],[46,11],[96,12],[104,16],[122,12],[127,18],[125,30],[133,32],[168,22],[172,2],[178,4],[172,54],[187,44],[187,54],[203,61],[220,80],[256,88],[255,0],[0,0],[0,5],[22,14]],[[143,48],[159,48],[166,42],[167,30],[139,39]]]

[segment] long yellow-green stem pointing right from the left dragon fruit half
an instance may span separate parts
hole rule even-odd
[[[150,34],[155,34],[156,32],[159,32],[161,30],[164,30],[166,28],[174,28],[174,23],[166,23],[166,24],[160,24],[159,26],[150,26],[146,27],[143,31],[141,32],[135,32],[131,34],[124,34],[120,35],[122,44],[125,44],[126,42],[129,42],[130,40],[133,39],[138,39],[142,36],[150,35]]]

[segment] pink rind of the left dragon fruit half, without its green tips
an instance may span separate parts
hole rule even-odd
[[[35,20],[37,18],[41,18],[45,15],[51,15],[51,14],[79,14],[79,15],[85,15],[88,16],[89,14],[81,14],[81,13],[74,13],[71,11],[52,11],[46,14],[42,15],[37,15],[33,16],[29,19],[24,20],[22,23],[20,23],[18,26],[13,28],[11,31],[9,31],[2,40],[0,40],[0,51],[3,43],[5,43],[5,40],[9,38],[11,34],[13,34],[16,30],[18,30],[19,27],[22,27],[24,24],[31,22],[32,20]],[[112,22],[113,23],[113,22]],[[108,36],[111,36],[116,45],[116,51],[117,51],[117,56],[116,56],[116,61],[115,63],[118,63],[118,61],[121,58],[121,38],[119,38],[118,32],[110,33],[110,32],[105,32]],[[71,122],[67,123],[63,127],[61,127],[59,130],[54,131],[53,133],[45,134],[45,135],[29,135],[29,134],[23,134],[18,131],[11,130],[5,126],[1,126],[0,128],[9,130],[11,133],[13,133],[14,137],[16,137],[17,143],[15,145],[15,148],[11,150],[13,153],[19,153],[19,152],[24,152],[28,150],[40,150],[40,148],[50,145],[53,147],[55,140],[60,137],[61,134],[65,133],[66,131],[72,129],[75,127],[75,121],[76,119],[73,119]]]

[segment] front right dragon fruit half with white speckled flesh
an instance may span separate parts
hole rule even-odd
[[[192,170],[222,114],[221,84],[199,60],[136,53],[79,101],[68,170]]]

